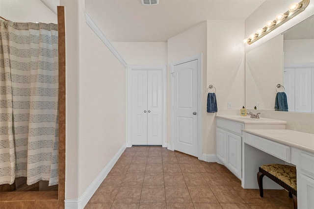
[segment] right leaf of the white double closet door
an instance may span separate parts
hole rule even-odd
[[[147,71],[147,144],[162,144],[162,71]]]

